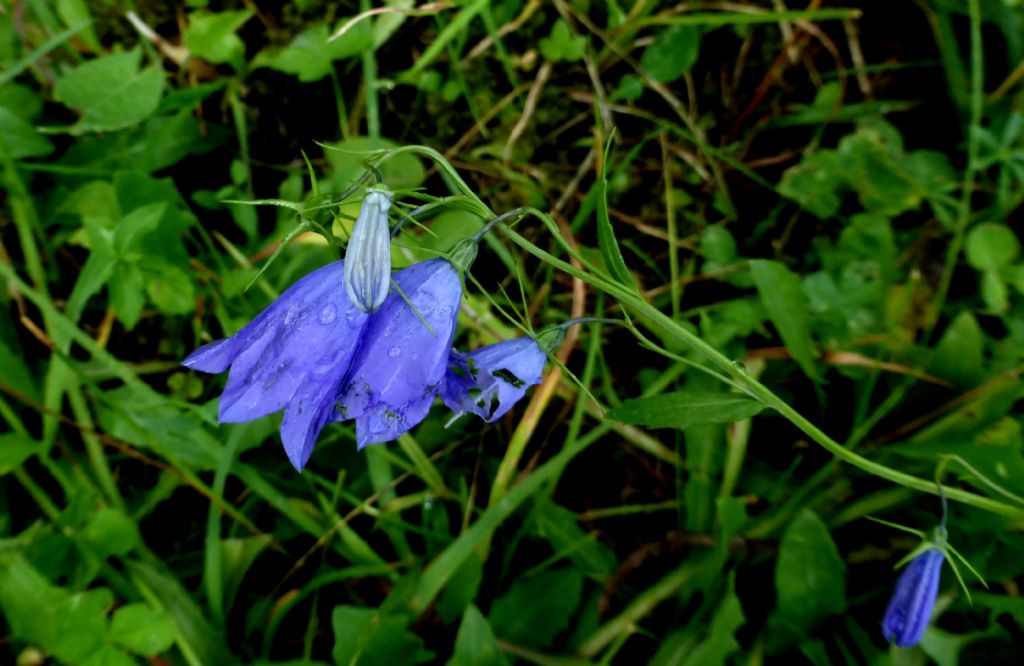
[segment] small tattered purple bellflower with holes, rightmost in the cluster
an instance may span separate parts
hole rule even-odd
[[[456,416],[471,412],[494,422],[527,388],[541,383],[547,361],[544,349],[528,337],[503,340],[469,353],[453,349],[441,400]]]

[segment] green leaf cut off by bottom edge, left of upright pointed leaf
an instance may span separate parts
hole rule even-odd
[[[393,666],[421,664],[432,654],[420,637],[408,629],[409,620],[385,615],[376,609],[335,607],[332,657],[339,666]]]

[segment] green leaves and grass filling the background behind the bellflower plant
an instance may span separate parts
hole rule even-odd
[[[1021,663],[1022,22],[1017,0],[0,0],[0,661]],[[225,202],[301,209],[303,153],[337,193],[354,152],[411,143],[598,263],[606,211],[649,303],[844,447],[925,478],[947,459],[1011,507],[950,506],[988,588],[972,605],[946,571],[922,646],[890,649],[916,541],[865,516],[928,531],[938,500],[770,410],[708,422],[700,358],[623,328],[559,352],[600,406],[552,365],[495,424],[435,410],[362,452],[329,426],[302,474],[278,417],[217,425],[223,378],[180,360],[339,256],[292,209]],[[383,175],[449,193],[412,155]],[[480,224],[407,228],[395,262]],[[460,348],[515,334],[499,307],[623,316],[501,234],[472,277]]]

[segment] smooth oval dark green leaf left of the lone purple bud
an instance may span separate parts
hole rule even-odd
[[[846,610],[846,573],[828,528],[804,509],[790,524],[775,566],[777,611],[805,634]]]

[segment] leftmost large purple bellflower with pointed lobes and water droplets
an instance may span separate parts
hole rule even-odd
[[[281,435],[297,469],[330,420],[368,322],[345,296],[342,276],[341,261],[314,270],[236,335],[200,347],[182,363],[204,372],[230,366],[221,422],[287,408]]]

